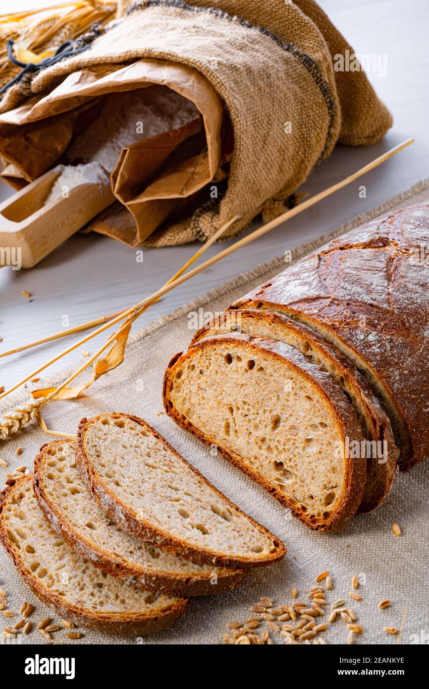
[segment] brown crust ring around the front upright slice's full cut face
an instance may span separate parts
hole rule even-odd
[[[342,434],[342,438],[345,438],[346,435],[348,435],[350,438],[362,439],[362,431],[360,430],[357,418],[355,417],[355,412],[353,411],[351,404],[346,400],[344,393],[342,393],[342,390],[337,386],[331,376],[323,373],[313,364],[308,364],[302,354],[297,350],[295,350],[297,355],[295,357],[295,361],[291,361],[290,358],[287,358],[284,353],[282,353],[282,351],[286,351],[287,347],[287,345],[284,345],[283,342],[241,334],[231,334],[218,335],[213,338],[207,338],[197,342],[196,345],[191,347],[191,349],[189,349],[187,353],[183,354],[179,359],[174,357],[171,360],[173,363],[171,364],[170,362],[167,370],[165,371],[163,384],[163,400],[165,411],[167,411],[167,414],[171,416],[171,418],[179,426],[182,426],[182,428],[190,431],[193,433],[193,435],[196,435],[199,440],[202,440],[202,442],[205,442],[209,445],[214,444],[213,438],[210,438],[209,435],[197,429],[189,421],[183,420],[180,415],[176,413],[174,405],[169,399],[171,377],[174,374],[175,367],[182,365],[183,362],[187,358],[191,358],[196,351],[206,347],[217,347],[220,344],[228,344],[231,347],[235,345],[239,349],[247,346],[250,349],[253,349],[253,351],[258,351],[258,349],[262,348],[264,349],[265,353],[269,353],[274,358],[282,360],[282,362],[284,362],[287,367],[292,368],[295,373],[304,376],[304,378],[306,378],[306,380],[308,380],[308,382],[310,382],[315,389],[317,389],[317,392],[324,398],[332,410],[333,416],[337,422],[337,427]],[[240,471],[251,477],[251,479],[253,479],[255,482],[260,484],[262,488],[273,495],[276,500],[291,509],[293,515],[304,522],[304,524],[306,524],[306,526],[311,528],[313,531],[334,532],[344,528],[344,526],[346,526],[346,524],[353,519],[353,516],[355,515],[357,508],[362,501],[362,495],[364,493],[364,486],[366,482],[366,464],[361,460],[348,459],[346,462],[346,487],[337,511],[335,511],[335,513],[331,515],[331,518],[326,520],[326,522],[315,525],[308,519],[308,515],[305,515],[305,513],[300,511],[300,509],[297,508],[295,504],[289,500],[289,498],[283,495],[283,493],[280,493],[280,491],[277,491],[274,486],[269,484],[269,482],[264,479],[264,477],[250,469],[249,466],[245,464],[242,457],[236,453],[223,449],[218,444],[217,446],[222,457],[228,460],[228,462],[231,462],[231,464],[240,469]]]

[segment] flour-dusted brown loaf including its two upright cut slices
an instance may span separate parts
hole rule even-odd
[[[429,206],[417,205],[368,223],[286,268],[234,302],[224,318],[196,333],[187,353],[171,360],[164,382],[167,413],[205,442],[216,443],[224,457],[311,528],[335,530],[354,508],[376,508],[386,500],[398,468],[406,471],[429,455],[428,246]],[[274,353],[283,358],[280,369]],[[256,361],[259,367],[246,369]],[[291,396],[279,387],[280,380],[291,378],[287,369],[296,375],[298,362],[307,379],[313,376],[313,394],[297,387]],[[339,435],[330,435],[331,442],[343,442],[336,466],[343,483],[337,491],[347,485],[350,467],[354,472],[348,484],[353,499],[344,509],[337,492],[326,515],[327,440],[313,433],[321,407],[305,401],[306,395],[311,402],[323,398],[320,387],[314,393],[321,373],[325,400],[343,424]],[[275,411],[280,407],[282,413]],[[325,414],[326,409],[329,404]],[[278,419],[277,428],[270,427],[272,418]],[[326,418],[332,431],[332,412]],[[317,467],[315,446],[324,457]],[[280,491],[273,466],[286,470],[287,487]]]

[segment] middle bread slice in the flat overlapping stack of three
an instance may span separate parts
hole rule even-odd
[[[33,487],[43,514],[65,542],[127,584],[189,597],[223,593],[244,579],[244,570],[194,564],[122,531],[85,488],[73,440],[54,440],[41,448]]]

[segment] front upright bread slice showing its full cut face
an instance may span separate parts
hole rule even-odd
[[[364,493],[366,461],[348,398],[320,366],[272,339],[214,336],[174,357],[167,413],[291,508],[314,531],[349,522]]]

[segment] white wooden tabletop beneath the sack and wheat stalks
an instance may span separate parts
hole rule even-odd
[[[359,212],[379,205],[390,196],[429,176],[429,90],[426,0],[320,0],[324,10],[350,41],[358,54],[388,56],[387,76],[370,73],[377,93],[393,112],[393,129],[381,143],[369,148],[337,147],[327,161],[311,174],[302,191],[315,194],[339,181],[400,141],[414,136],[416,143],[388,163],[367,174],[364,181],[346,187],[335,196],[282,225],[256,243],[233,254],[220,264],[196,276],[151,307],[136,324],[140,327],[169,313],[205,291],[230,280],[258,263],[280,256],[285,249],[330,231]],[[43,0],[16,0],[14,10],[45,4]],[[366,185],[366,198],[358,187]],[[0,198],[10,189],[0,182]],[[224,245],[223,245],[224,246]],[[136,263],[136,252],[96,234],[73,236],[32,270],[0,269],[0,351],[59,331],[63,316],[70,327],[106,313],[112,313],[151,294],[197,249],[185,245],[167,249],[145,249],[144,262]],[[219,250],[211,247],[207,256]],[[21,295],[32,294],[32,301]],[[76,338],[76,336],[74,336]],[[100,336],[98,342],[104,342]],[[65,349],[72,338],[0,359],[0,386],[9,386]],[[96,340],[82,347],[94,352]],[[48,369],[55,373],[69,363],[83,362],[81,349]]]

